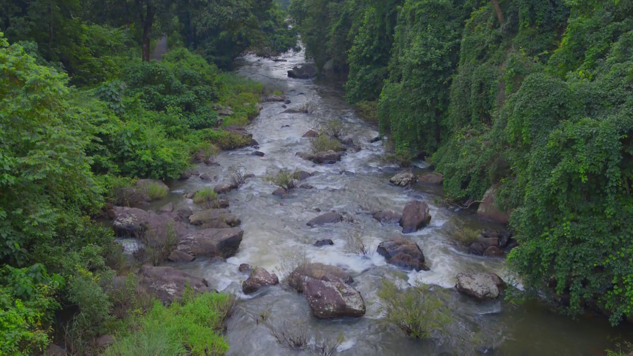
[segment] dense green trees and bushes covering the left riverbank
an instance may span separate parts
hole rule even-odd
[[[132,188],[135,179],[176,179],[250,142],[222,127],[255,117],[263,88],[222,70],[245,50],[294,48],[286,18],[272,0],[0,1],[0,355],[41,355],[60,339],[89,355],[97,336],[143,328],[151,301],[134,281],[106,291],[127,264],[92,218],[165,194]],[[164,37],[170,51],[149,61]],[[156,306],[154,317],[182,320],[147,331],[151,346],[182,348],[191,334],[193,348],[225,350],[222,308],[212,306],[229,296],[204,298]],[[192,312],[203,319],[183,316]]]

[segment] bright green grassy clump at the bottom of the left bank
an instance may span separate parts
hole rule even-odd
[[[165,307],[160,302],[130,324],[104,355],[223,355],[229,350],[220,331],[234,297],[225,293],[190,296]]]

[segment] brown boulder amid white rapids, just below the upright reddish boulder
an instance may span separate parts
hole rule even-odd
[[[424,263],[424,254],[417,243],[401,237],[382,241],[377,252],[388,264],[408,270],[429,270]]]

